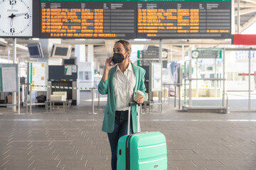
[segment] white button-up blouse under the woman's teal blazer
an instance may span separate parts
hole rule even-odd
[[[117,64],[113,79],[116,111],[127,111],[129,109],[128,104],[132,101],[135,84],[136,76],[132,64],[129,63],[124,73],[121,72]]]

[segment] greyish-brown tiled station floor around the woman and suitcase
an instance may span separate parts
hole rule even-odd
[[[14,115],[0,108],[0,169],[109,170],[102,110],[89,115],[84,102],[61,111]],[[142,131],[166,136],[169,170],[256,169],[256,113],[186,113],[165,104],[164,113],[142,115],[141,123]]]

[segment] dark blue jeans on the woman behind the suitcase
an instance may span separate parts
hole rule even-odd
[[[114,119],[114,131],[107,133],[110,140],[112,153],[111,166],[112,170],[117,170],[117,143],[120,137],[127,135],[128,111],[116,111]],[[130,134],[132,133],[132,115],[130,124]]]

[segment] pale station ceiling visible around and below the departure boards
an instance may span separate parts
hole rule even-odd
[[[238,0],[234,1],[235,8],[235,33],[238,33]],[[240,0],[240,33],[256,22],[256,0]],[[99,62],[100,65],[105,65],[107,57],[112,55],[112,47],[116,40],[104,40],[104,39],[65,39],[61,40],[63,44],[75,45],[94,45],[94,57],[95,62]],[[12,60],[12,42],[10,38],[0,38],[0,58]],[[26,45],[28,43],[36,43],[36,39],[17,39],[17,58],[19,62],[33,60],[29,58]],[[132,45],[156,45],[159,46],[159,40],[129,40]],[[180,59],[182,57],[182,45],[184,49],[187,47],[223,47],[223,45],[230,45],[230,39],[176,39],[176,40],[162,40],[162,47],[171,50],[173,59]],[[74,49],[74,48],[73,48]]]

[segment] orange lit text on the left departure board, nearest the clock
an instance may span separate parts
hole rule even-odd
[[[103,9],[42,8],[41,14],[41,32],[50,37],[116,37],[103,31]]]

